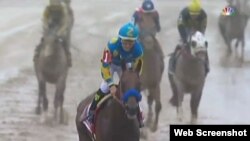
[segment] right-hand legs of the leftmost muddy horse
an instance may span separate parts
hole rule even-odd
[[[65,90],[65,86],[66,86],[66,79],[59,79],[59,81],[56,84],[56,94],[55,94],[55,98],[54,98],[54,108],[55,108],[55,112],[54,112],[54,117],[55,119],[57,119],[57,110],[58,107],[60,107],[60,123],[64,122],[64,111],[63,111],[63,101],[64,101],[64,90]]]

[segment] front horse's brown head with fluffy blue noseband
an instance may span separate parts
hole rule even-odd
[[[120,78],[118,93],[125,107],[126,115],[129,119],[136,118],[138,106],[141,101],[140,94],[140,69],[142,62],[139,62],[135,69],[130,65],[122,65],[123,73]]]

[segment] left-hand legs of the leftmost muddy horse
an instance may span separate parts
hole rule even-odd
[[[48,109],[48,99],[46,97],[46,83],[45,81],[38,81],[38,101],[36,114],[41,114],[41,103],[43,101],[43,109],[46,111]]]

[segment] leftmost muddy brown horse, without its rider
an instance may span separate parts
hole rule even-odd
[[[38,81],[38,101],[36,114],[41,114],[41,104],[45,113],[48,111],[48,99],[46,96],[46,83],[56,87],[54,97],[54,118],[57,119],[58,108],[60,110],[60,123],[64,123],[64,91],[68,74],[65,48],[62,41],[55,35],[55,30],[44,32],[40,54],[34,62],[35,73]]]

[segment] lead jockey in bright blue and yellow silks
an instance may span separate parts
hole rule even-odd
[[[136,66],[139,61],[142,61],[143,48],[137,40],[139,30],[134,24],[126,23],[119,30],[119,36],[112,38],[103,52],[103,58],[101,60],[101,74],[104,81],[95,94],[90,110],[88,120],[93,123],[94,113],[97,103],[109,92],[112,96],[115,96],[117,91],[116,85],[113,82],[113,74],[117,72],[121,77],[122,68],[121,63],[132,63],[132,66]],[[138,108],[140,111],[140,108]],[[138,120],[140,127],[143,126],[142,112],[139,112]]]

